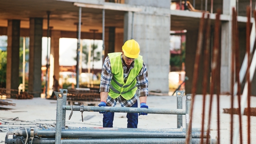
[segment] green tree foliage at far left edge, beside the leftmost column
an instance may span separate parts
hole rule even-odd
[[[0,49],[0,87],[6,87],[7,51]]]

